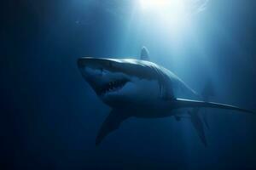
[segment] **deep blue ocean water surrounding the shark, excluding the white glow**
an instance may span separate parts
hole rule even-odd
[[[236,111],[207,110],[208,147],[173,117],[131,118],[96,147],[110,108],[81,77],[81,56],[137,58],[146,46],[196,91],[212,81],[212,101],[256,111],[253,0],[209,0],[178,37],[136,2],[1,4],[0,169],[256,169],[256,116]]]

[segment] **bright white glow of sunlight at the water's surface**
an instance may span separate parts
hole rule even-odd
[[[150,18],[155,29],[164,29],[176,37],[189,27],[189,1],[192,0],[140,0],[141,13],[146,20]]]

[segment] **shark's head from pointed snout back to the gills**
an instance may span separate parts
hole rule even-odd
[[[154,94],[153,90],[159,93],[155,71],[148,63],[137,59],[84,57],[78,60],[84,79],[104,103],[113,107],[147,100],[148,95]]]

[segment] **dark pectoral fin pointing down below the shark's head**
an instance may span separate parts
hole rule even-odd
[[[119,128],[121,122],[123,122],[129,116],[124,113],[124,111],[114,110],[110,111],[106,120],[102,123],[102,127],[100,128],[99,133],[96,137],[96,145],[102,142],[108,133],[113,132],[114,130]]]

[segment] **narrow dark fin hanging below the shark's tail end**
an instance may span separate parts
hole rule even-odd
[[[195,127],[196,133],[198,134],[201,142],[207,146],[207,138],[204,131],[203,122],[201,121],[200,116],[198,115],[198,108],[194,108],[193,111],[189,111],[190,120]]]

